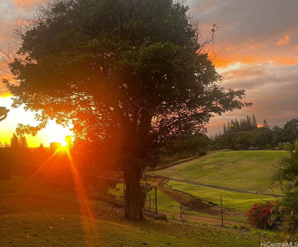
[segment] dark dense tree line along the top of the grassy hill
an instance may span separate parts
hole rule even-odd
[[[251,128],[257,126],[254,115],[252,121],[247,120],[250,120],[250,117],[247,117],[245,120],[246,128],[248,126]],[[231,128],[226,128],[226,131],[224,131],[223,134],[220,132],[220,134],[215,133],[215,136],[210,136],[212,150],[241,150],[252,146],[266,149],[268,145],[274,149],[281,143],[290,143],[294,145],[294,142],[298,139],[298,118],[293,118],[290,121],[287,121],[283,128],[275,125],[272,129],[269,128],[268,123],[264,119],[262,127],[252,128],[248,131],[239,130],[238,132],[232,131],[233,127],[235,127],[236,130],[237,120],[231,122],[233,123],[233,126]],[[243,122],[244,121],[242,121],[242,124]],[[255,123],[256,125],[250,125],[250,123]]]

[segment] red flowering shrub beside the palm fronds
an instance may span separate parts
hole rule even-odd
[[[275,222],[269,225],[269,220],[271,214],[274,213],[272,208],[276,202],[255,203],[245,214],[247,221],[257,229],[275,229]]]

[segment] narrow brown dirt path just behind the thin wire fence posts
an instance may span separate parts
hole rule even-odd
[[[172,213],[159,210],[159,213],[164,213],[167,216],[171,216]],[[176,214],[176,218],[180,219],[180,214]],[[186,215],[182,214],[182,219],[186,219]],[[218,218],[210,218],[210,217],[203,217],[203,216],[196,216],[196,215],[188,215],[188,220],[190,221],[195,221],[195,222],[200,222],[200,223],[205,223],[205,224],[210,224],[210,225],[221,225],[221,219]],[[239,222],[239,221],[230,221],[227,219],[224,219],[224,226],[226,225],[238,225],[238,226],[251,226],[248,223],[244,222]]]

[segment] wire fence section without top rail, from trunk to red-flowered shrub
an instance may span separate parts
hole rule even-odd
[[[246,217],[247,210],[255,203],[275,200],[274,197],[250,193],[234,193],[232,196],[239,198],[201,193],[193,195],[173,187],[157,186],[159,213],[164,213],[173,220],[182,219],[212,225],[250,226]]]

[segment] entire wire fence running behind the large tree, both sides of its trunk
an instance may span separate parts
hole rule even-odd
[[[104,177],[76,170],[42,166],[28,163],[10,162],[11,172],[15,175],[35,177],[49,182],[60,183],[75,187],[76,179],[86,191],[96,194],[103,199],[125,204],[125,180]],[[77,178],[76,178],[77,177]],[[179,191],[170,186],[163,186],[152,181],[141,182],[143,208],[152,213],[164,213],[168,218],[204,222],[207,224],[227,225],[246,224],[245,211],[256,200],[233,200],[226,197],[200,194],[194,195]],[[197,193],[197,194],[196,194]]]

